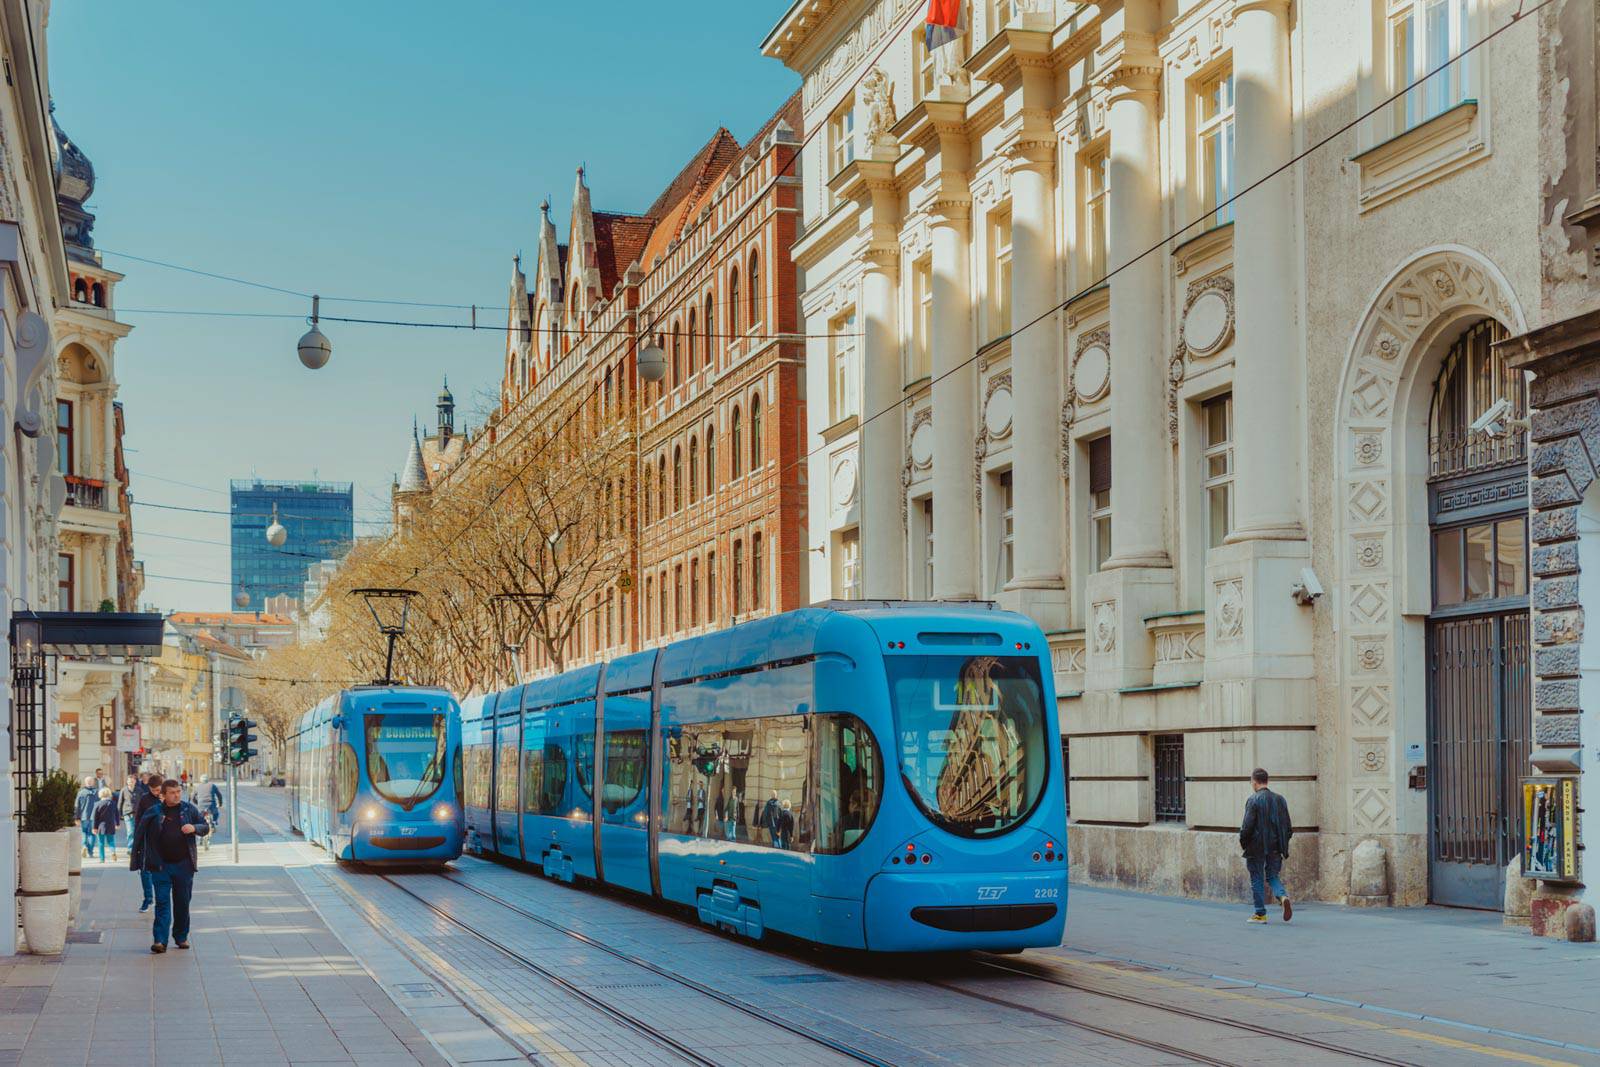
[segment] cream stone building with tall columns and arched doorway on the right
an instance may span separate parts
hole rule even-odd
[[[1242,893],[1259,765],[1291,885],[1499,907],[1533,728],[1496,342],[1552,314],[1571,210],[1554,16],[978,0],[928,56],[925,8],[795,0],[763,43],[822,130],[808,598],[1040,622],[1083,880]]]

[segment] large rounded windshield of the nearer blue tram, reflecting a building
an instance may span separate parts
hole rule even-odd
[[[1038,661],[1027,656],[899,656],[885,664],[901,774],[938,825],[1005,833],[1045,789]]]

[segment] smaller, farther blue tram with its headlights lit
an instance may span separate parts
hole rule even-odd
[[[443,689],[355,686],[288,739],[290,827],[360,864],[461,856],[461,709]]]

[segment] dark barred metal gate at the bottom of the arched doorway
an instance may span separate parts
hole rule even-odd
[[[1499,909],[1522,837],[1518,777],[1533,709],[1528,611],[1434,619],[1427,627],[1429,896]]]

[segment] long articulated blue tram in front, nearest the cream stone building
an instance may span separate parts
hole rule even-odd
[[[750,937],[1056,945],[1046,654],[989,605],[838,601],[474,697],[467,846]]]

